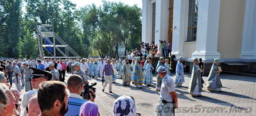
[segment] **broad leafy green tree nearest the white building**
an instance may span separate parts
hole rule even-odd
[[[85,43],[98,42],[101,46],[108,46],[110,57],[119,58],[118,47],[125,46],[125,53],[129,47],[139,46],[141,39],[141,13],[137,6],[123,3],[103,1],[103,6],[85,6],[81,9],[83,25],[83,40]],[[96,40],[94,40],[96,39]],[[92,45],[91,47],[95,47]],[[94,49],[94,48],[92,48]]]

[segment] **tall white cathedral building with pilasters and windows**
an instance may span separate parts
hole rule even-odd
[[[202,58],[210,63],[220,58],[227,65],[232,65],[230,62],[254,62],[255,65],[255,0],[142,2],[143,42],[159,45],[159,40],[169,40],[171,53],[188,62]]]

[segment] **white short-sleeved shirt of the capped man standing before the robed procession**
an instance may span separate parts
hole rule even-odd
[[[170,92],[174,92],[174,91],[175,91],[175,81],[173,81],[171,76],[168,76],[168,74],[166,74],[166,76],[162,78],[160,99],[168,102],[172,102],[173,97],[171,96]]]

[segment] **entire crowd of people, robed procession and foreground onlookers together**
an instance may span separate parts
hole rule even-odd
[[[160,57],[157,67],[152,66],[149,56],[115,60],[114,58],[89,58],[74,60],[4,60],[0,61],[0,115],[100,115],[98,104],[94,103],[96,93],[88,88],[89,80],[100,78],[104,83],[102,91],[112,92],[112,83],[122,79],[123,86],[131,83],[137,88],[153,85],[153,70],[157,74],[156,90],[160,92],[158,115],[171,115],[164,109],[177,108],[176,87],[184,83],[183,58],[178,58],[175,80],[171,78],[169,60]],[[203,79],[201,59],[194,59],[189,94],[200,96]],[[215,59],[210,70],[207,89],[221,91],[219,60]],[[71,75],[65,81],[65,74]],[[12,87],[15,83],[16,89]],[[25,93],[21,95],[21,87]],[[11,89],[12,88],[12,89]],[[88,90],[85,90],[88,88]],[[87,97],[85,97],[85,94]],[[126,104],[123,104],[125,102]],[[122,104],[121,104],[122,103]],[[125,107],[125,108],[124,108]],[[161,108],[160,108],[161,107]],[[125,110],[124,110],[125,109]],[[113,115],[136,115],[135,100],[130,95],[117,98]]]

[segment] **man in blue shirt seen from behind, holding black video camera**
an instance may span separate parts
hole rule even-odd
[[[87,100],[94,102],[94,97],[92,97],[92,94],[95,95],[95,93],[91,89],[89,89],[90,93],[92,93],[89,94],[90,99],[85,100],[80,96],[83,91],[83,79],[77,74],[69,76],[69,79],[67,80],[67,89],[70,92],[68,102],[69,110],[67,113],[65,113],[65,115],[80,115],[80,107],[83,103],[87,102]]]

